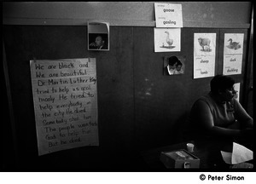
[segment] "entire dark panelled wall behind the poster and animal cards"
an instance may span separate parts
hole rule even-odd
[[[137,170],[139,151],[182,141],[190,107],[212,79],[193,79],[195,32],[217,33],[216,74],[224,32],[245,33],[242,74],[232,76],[242,89],[247,29],[182,28],[181,52],[154,53],[154,27],[111,26],[110,50],[97,52],[87,50],[86,26],[3,26],[17,170]],[[163,57],[170,55],[186,57],[185,74],[163,75]],[[88,57],[96,58],[100,146],[38,157],[29,60]]]

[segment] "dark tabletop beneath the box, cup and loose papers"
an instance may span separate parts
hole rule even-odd
[[[221,152],[232,152],[233,142],[216,142],[208,140],[194,140],[177,143],[166,147],[157,147],[154,149],[141,152],[144,162],[148,165],[148,170],[152,171],[167,171],[165,165],[160,162],[160,152],[169,152],[179,149],[186,149],[187,143],[193,143],[195,145],[194,152],[195,157],[200,158],[200,169],[211,170],[229,170],[230,164],[226,164],[222,158]],[[182,169],[176,169],[182,170]],[[197,170],[197,169],[186,169]]]

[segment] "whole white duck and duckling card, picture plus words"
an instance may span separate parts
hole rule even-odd
[[[244,34],[224,34],[224,75],[241,74]]]

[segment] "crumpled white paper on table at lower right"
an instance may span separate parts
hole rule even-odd
[[[224,162],[227,164],[239,164],[253,159],[253,151],[247,149],[247,147],[237,144],[236,142],[233,142],[232,152],[220,152]]]

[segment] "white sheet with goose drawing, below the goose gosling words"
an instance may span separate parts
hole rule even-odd
[[[154,52],[180,51],[180,28],[154,28]]]

